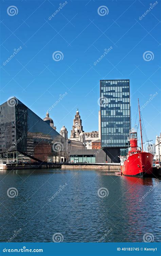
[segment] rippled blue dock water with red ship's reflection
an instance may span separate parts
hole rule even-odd
[[[46,169],[0,172],[0,181],[1,242],[53,242],[55,233],[63,242],[161,241],[157,178]]]

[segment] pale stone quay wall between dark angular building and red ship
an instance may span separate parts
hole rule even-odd
[[[90,169],[90,170],[96,170],[96,169],[102,169],[106,171],[115,171],[120,170],[120,165],[62,165],[61,169]]]

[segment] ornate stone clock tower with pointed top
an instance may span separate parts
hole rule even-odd
[[[79,111],[77,109],[75,118],[73,119],[73,126],[71,130],[70,138],[79,138],[79,134],[81,132],[84,132],[84,131],[82,126],[81,116],[79,115]]]

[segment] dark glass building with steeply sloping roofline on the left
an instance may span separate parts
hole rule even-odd
[[[0,162],[68,160],[68,143],[16,97],[0,105]]]

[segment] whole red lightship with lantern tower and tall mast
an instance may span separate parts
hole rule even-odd
[[[139,99],[138,99],[139,104]],[[126,157],[120,156],[121,172],[127,176],[145,176],[153,173],[153,154],[143,151],[142,127],[139,106],[139,122],[141,133],[141,148],[138,147],[138,137],[136,129],[129,132],[128,141],[130,148]]]

